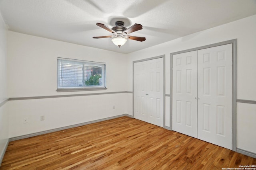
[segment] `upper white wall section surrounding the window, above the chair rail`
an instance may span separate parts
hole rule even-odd
[[[57,57],[106,63],[108,90],[103,92],[126,90],[126,57],[120,53],[12,31],[7,49],[10,98],[82,93],[56,92]]]

